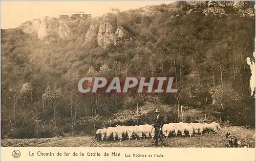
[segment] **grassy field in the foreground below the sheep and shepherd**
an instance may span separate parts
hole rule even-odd
[[[197,134],[193,137],[174,137],[165,140],[165,147],[227,147],[226,133],[237,136],[241,147],[255,147],[254,129],[223,127],[215,134]],[[3,147],[152,147],[153,139],[96,142],[94,137],[65,137],[47,139],[2,139]],[[160,143],[160,141],[159,141]]]

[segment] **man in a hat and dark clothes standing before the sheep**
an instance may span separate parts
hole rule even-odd
[[[155,123],[153,124],[154,128],[155,128],[155,146],[157,147],[158,145],[158,138],[160,138],[162,147],[164,147],[164,141],[163,141],[163,123],[164,123],[164,118],[163,116],[160,114],[160,111],[157,109],[155,111],[155,113],[157,114],[156,119],[155,119]]]

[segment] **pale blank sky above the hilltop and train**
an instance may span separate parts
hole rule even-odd
[[[23,22],[44,16],[58,17],[70,12],[91,13],[92,17],[174,1],[1,1],[1,29],[16,28]]]

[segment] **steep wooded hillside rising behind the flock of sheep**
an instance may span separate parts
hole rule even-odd
[[[1,136],[46,138],[152,123],[154,107],[166,122],[254,126],[246,62],[254,51],[253,5],[177,2],[1,29]],[[172,76],[178,93],[79,95],[74,85],[83,75]]]

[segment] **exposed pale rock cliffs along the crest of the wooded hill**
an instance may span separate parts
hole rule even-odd
[[[136,13],[138,16],[151,17],[160,12],[183,10],[186,14],[189,14],[191,11],[202,11],[206,15],[210,13],[227,15],[231,9],[239,16],[254,17],[254,10],[249,7],[248,2],[242,1],[188,1],[186,2],[186,5],[181,5],[181,2],[176,2],[169,5],[146,6],[136,10],[124,11],[122,13]],[[82,31],[82,35],[84,35],[83,46],[95,42],[95,45],[107,47],[122,43],[124,40],[129,40],[130,33],[124,30],[123,26],[119,25],[118,18],[120,14],[121,13],[109,13],[102,17],[79,21],[78,25],[82,25],[83,21],[90,21],[90,28],[86,31]],[[75,24],[72,20],[64,21],[53,17],[42,17],[27,21],[23,23],[20,28],[26,33],[35,34],[38,39],[50,35],[58,35],[60,38],[66,38],[72,36],[72,27],[70,27],[67,22],[69,24]]]

